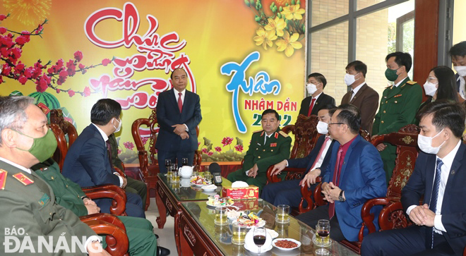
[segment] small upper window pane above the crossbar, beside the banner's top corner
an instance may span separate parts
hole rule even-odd
[[[313,0],[311,26],[348,14],[349,0]]]

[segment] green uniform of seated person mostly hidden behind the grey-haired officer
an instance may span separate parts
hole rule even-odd
[[[52,187],[56,203],[70,209],[79,217],[88,215],[88,209],[83,202],[85,193],[77,183],[61,175],[59,165],[53,159],[47,159],[43,163],[32,166],[31,169]],[[130,255],[156,255],[157,238],[155,238],[150,221],[137,217],[118,216],[118,218],[126,228]],[[105,248],[107,246],[105,239],[102,239],[102,243]]]

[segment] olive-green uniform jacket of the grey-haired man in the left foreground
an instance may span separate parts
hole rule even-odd
[[[13,227],[16,231],[20,231],[19,228],[23,230],[8,235],[6,228],[11,231]],[[8,250],[12,251],[8,255],[35,255],[39,249],[42,249],[42,254],[38,255],[87,255],[79,248],[75,252],[61,249],[54,254],[53,251],[66,245],[71,250],[73,236],[80,243],[83,242],[83,237],[87,240],[90,236],[97,236],[76,214],[57,204],[52,188],[33,171],[28,173],[5,161],[0,161],[0,228],[0,255],[6,255],[7,245],[4,243],[8,236],[18,238],[20,243],[13,252],[16,243],[8,238]],[[60,242],[63,239],[66,243]],[[53,251],[47,252],[47,246],[38,247],[39,240],[46,244],[52,240]],[[25,246],[24,252],[20,253],[23,245],[32,247]]]

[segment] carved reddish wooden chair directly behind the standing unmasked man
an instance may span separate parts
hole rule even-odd
[[[141,132],[139,130],[141,126],[148,126],[148,128],[150,128],[149,156],[147,150],[145,150],[143,139],[141,137]],[[155,186],[157,184],[157,173],[160,172],[159,161],[155,157],[155,154],[157,154],[157,149],[155,149],[155,142],[157,142],[158,127],[159,126],[157,123],[157,109],[152,110],[152,113],[150,114],[149,118],[138,118],[136,119],[136,121],[133,122],[133,125],[131,126],[133,140],[136,144],[136,148],[138,149],[139,166],[141,168],[141,172],[143,173],[144,182],[148,186],[148,197],[145,202],[146,210],[148,209],[150,204],[150,190],[155,190]],[[196,127],[196,135],[199,136],[199,127]],[[201,161],[202,154],[200,151],[196,150],[196,152],[194,153],[194,166],[201,166]]]

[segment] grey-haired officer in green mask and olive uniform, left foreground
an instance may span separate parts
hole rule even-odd
[[[96,233],[71,210],[58,205],[52,188],[30,170],[56,148],[47,116],[34,102],[30,97],[0,97],[0,255],[7,250],[8,255],[34,255],[39,250],[40,255],[109,255]],[[9,233],[7,228],[18,232]],[[9,236],[21,245],[11,243],[15,239]],[[83,248],[73,252],[76,238],[82,242],[83,237]],[[52,243],[52,251],[40,246],[40,240]]]

